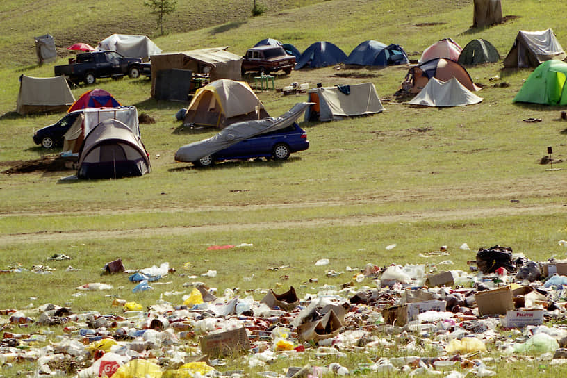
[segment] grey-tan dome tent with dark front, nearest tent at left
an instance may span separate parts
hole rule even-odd
[[[142,140],[118,120],[105,120],[88,133],[79,151],[79,179],[118,179],[151,171]]]

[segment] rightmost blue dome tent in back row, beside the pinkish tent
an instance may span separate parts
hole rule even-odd
[[[356,46],[346,61],[349,65],[400,65],[409,63],[409,58],[400,45],[368,40]]]

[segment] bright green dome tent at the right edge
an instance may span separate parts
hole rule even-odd
[[[512,102],[567,105],[567,63],[547,60],[530,74]]]

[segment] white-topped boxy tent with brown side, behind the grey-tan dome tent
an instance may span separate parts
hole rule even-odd
[[[135,106],[120,106],[117,108],[85,108],[81,116],[77,117],[74,124],[63,135],[63,151],[78,152],[81,144],[97,124],[104,120],[119,120],[140,138],[140,124],[138,122],[138,109]]]

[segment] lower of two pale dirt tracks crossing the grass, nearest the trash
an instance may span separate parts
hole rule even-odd
[[[321,205],[321,204],[319,204]],[[264,206],[265,207],[265,206]],[[53,233],[21,233],[2,237],[3,245],[15,243],[44,243],[54,240],[82,240],[82,239],[110,239],[110,238],[132,238],[149,236],[172,236],[187,235],[199,232],[219,231],[242,231],[242,230],[264,230],[279,228],[309,228],[309,227],[333,227],[344,226],[366,226],[379,223],[392,222],[416,222],[422,220],[463,220],[472,218],[498,217],[509,215],[532,215],[557,213],[566,211],[567,204],[546,204],[538,206],[521,206],[511,204],[507,208],[468,208],[450,211],[425,211],[418,213],[404,213],[398,215],[353,215],[346,217],[324,218],[316,220],[299,220],[283,222],[262,223],[230,223],[230,224],[206,224],[192,227],[156,227],[145,229],[125,229],[117,231],[78,231],[78,232],[53,232]]]

